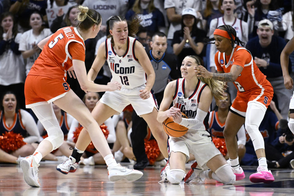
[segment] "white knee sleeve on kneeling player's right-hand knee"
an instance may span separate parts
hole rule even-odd
[[[236,175],[233,173],[229,164],[220,166],[212,173],[212,178],[223,184],[232,184],[236,181]]]

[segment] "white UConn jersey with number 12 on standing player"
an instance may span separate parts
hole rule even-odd
[[[120,82],[126,89],[133,89],[146,83],[145,71],[134,53],[136,41],[135,38],[128,37],[126,53],[118,56],[111,45],[111,38],[105,40],[106,60],[112,75],[111,81]]]

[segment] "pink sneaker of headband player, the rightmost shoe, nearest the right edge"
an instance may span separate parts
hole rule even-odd
[[[272,183],[275,179],[270,170],[267,170],[267,168],[258,166],[257,172],[254,174],[251,174],[249,177],[249,180],[253,183],[268,183],[269,184],[269,183]]]

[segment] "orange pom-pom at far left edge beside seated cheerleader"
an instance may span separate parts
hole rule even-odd
[[[0,136],[0,148],[6,153],[12,153],[27,144],[23,139],[21,134],[16,134],[13,131],[5,132]]]

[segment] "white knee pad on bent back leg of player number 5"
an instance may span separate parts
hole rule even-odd
[[[62,145],[64,136],[60,126],[51,126],[47,128],[47,133],[48,133],[48,137],[45,138],[44,140],[48,140],[51,142],[52,150],[55,150]]]

